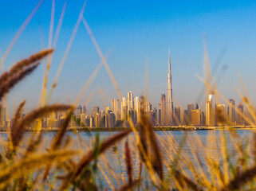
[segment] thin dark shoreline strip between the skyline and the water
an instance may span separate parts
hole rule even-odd
[[[251,130],[256,129],[256,126],[234,126],[234,127],[153,127],[153,131],[216,131],[216,130]],[[136,127],[138,130],[138,127]],[[33,129],[26,129],[27,132],[35,131]],[[43,132],[56,132],[60,128],[42,128]],[[131,127],[69,127],[67,131],[132,131]],[[0,132],[9,132],[6,128],[0,128]]]

